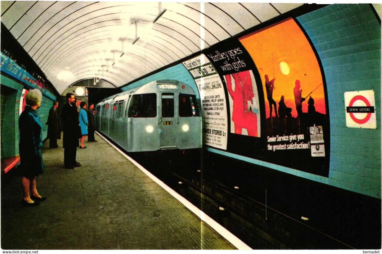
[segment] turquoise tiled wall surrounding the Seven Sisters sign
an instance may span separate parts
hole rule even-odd
[[[297,18],[317,50],[330,115],[328,184],[380,198],[381,27],[368,4],[333,4]],[[347,128],[345,91],[374,90],[377,129]]]

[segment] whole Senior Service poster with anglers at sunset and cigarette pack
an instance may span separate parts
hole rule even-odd
[[[327,176],[325,85],[317,57],[303,31],[290,18],[239,40],[251,55],[262,81],[266,160]]]

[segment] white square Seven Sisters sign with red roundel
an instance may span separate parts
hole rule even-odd
[[[374,90],[345,92],[346,126],[376,129]]]

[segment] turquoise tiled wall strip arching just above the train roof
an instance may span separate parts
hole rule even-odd
[[[191,86],[195,90],[197,97],[199,97],[199,93],[197,91],[195,81],[192,78],[191,74],[188,72],[188,70],[183,66],[183,64],[177,64],[173,67],[169,67],[165,70],[162,70],[161,72],[155,73],[149,77],[143,78],[137,82],[134,82],[128,86],[125,86],[124,88],[122,88],[122,90],[125,91],[127,89],[141,86],[151,81],[160,80],[160,79],[173,79],[173,80],[178,80],[183,83],[186,83],[187,85]]]

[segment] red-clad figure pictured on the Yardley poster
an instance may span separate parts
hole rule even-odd
[[[249,110],[248,101],[254,97],[251,75],[248,70],[234,73],[235,91],[232,90],[231,75],[226,75],[227,89],[233,99],[232,121],[235,123],[235,133],[241,134],[242,128],[247,129],[248,136],[257,137],[257,115]]]

